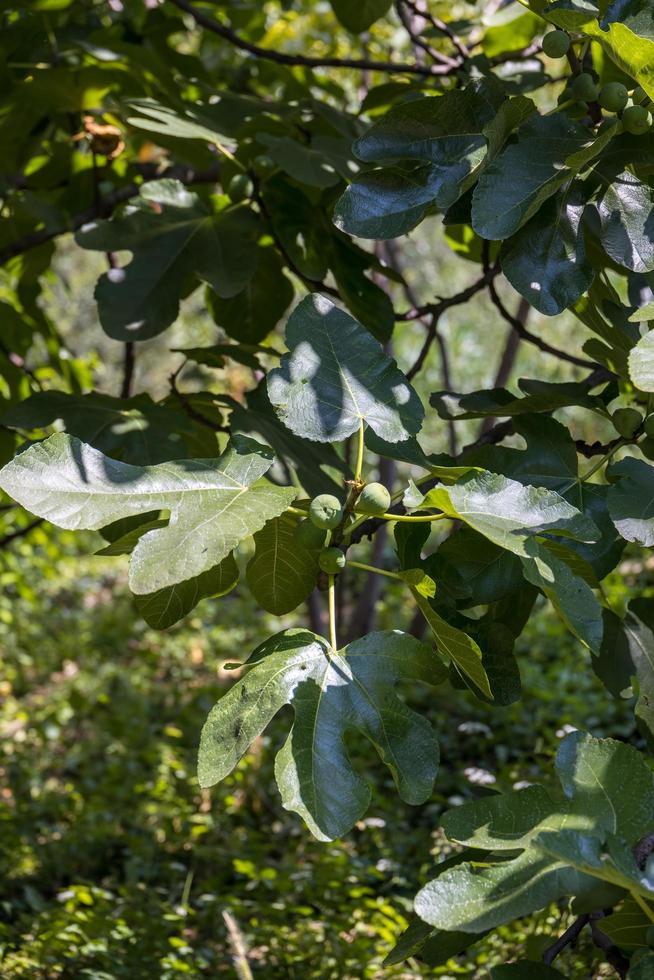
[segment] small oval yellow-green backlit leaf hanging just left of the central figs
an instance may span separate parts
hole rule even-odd
[[[247,583],[259,605],[275,616],[283,616],[304,602],[318,578],[316,554],[298,543],[296,526],[297,521],[282,515],[254,536]]]

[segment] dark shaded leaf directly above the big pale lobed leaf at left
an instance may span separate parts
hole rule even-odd
[[[41,429],[61,419],[66,431],[126,463],[164,463],[170,459],[214,456],[215,433],[178,408],[153,402],[149,395],[112,398],[93,392],[71,395],[37,391],[2,417],[3,425]]]

